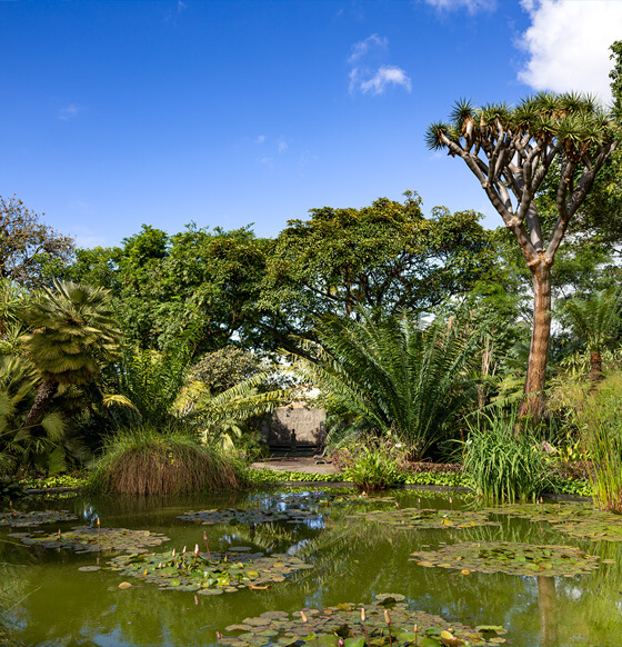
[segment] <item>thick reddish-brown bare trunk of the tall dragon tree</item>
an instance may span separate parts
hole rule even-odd
[[[540,420],[549,340],[551,339],[551,265],[542,253],[533,273],[533,329],[524,384],[524,399],[519,414]]]

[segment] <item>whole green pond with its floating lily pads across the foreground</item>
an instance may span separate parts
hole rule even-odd
[[[457,636],[461,625],[504,627],[482,634],[490,645],[622,644],[622,526],[586,505],[482,511],[468,497],[393,490],[358,498],[324,487],[32,498],[16,508],[77,518],[16,527],[20,517],[4,517],[12,525],[0,525],[0,589],[16,605],[17,639],[29,646],[254,647],[307,638],[313,647],[314,631],[318,647],[328,647],[318,637],[330,629],[327,618],[354,623],[360,604],[378,611],[378,621],[368,620],[374,635],[385,608],[389,621],[403,620],[399,630],[413,618],[425,625],[414,610],[441,616]],[[72,534],[76,526],[83,529]],[[307,621],[302,609],[310,609]],[[372,644],[389,645],[388,631],[378,635]],[[430,644],[460,645],[444,636]]]

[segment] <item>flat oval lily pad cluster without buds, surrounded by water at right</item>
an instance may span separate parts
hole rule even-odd
[[[523,576],[573,576],[598,568],[599,558],[572,546],[535,546],[510,541],[461,543],[439,550],[418,550],[411,561],[423,567]]]

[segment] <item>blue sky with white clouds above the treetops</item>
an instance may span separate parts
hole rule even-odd
[[[409,189],[498,226],[427,126],[458,98],[608,100],[615,38],[619,0],[0,0],[0,195],[84,247]]]

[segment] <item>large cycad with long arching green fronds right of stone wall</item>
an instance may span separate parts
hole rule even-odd
[[[359,321],[324,320],[312,359],[294,356],[293,370],[319,387],[351,428],[407,442],[414,458],[448,432],[476,398],[473,368],[480,336],[455,322],[422,330],[409,312]]]

